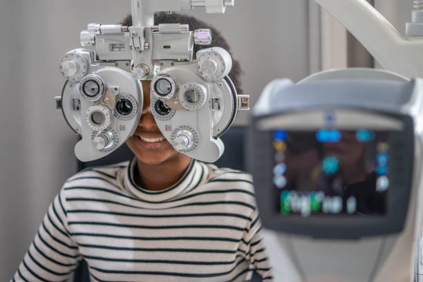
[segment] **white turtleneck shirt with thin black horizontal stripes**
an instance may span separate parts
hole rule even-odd
[[[13,281],[272,281],[252,178],[194,160],[172,187],[135,185],[135,159],[87,169],[55,197]]]

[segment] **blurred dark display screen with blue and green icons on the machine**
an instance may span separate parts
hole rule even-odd
[[[272,133],[272,179],[280,214],[386,214],[392,149],[389,131]]]

